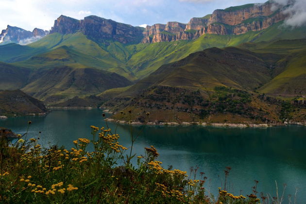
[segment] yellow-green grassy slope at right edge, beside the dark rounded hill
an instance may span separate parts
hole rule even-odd
[[[274,65],[273,79],[260,87],[259,92],[287,97],[306,95],[306,39],[246,43],[240,47],[256,53],[276,53],[282,56]]]

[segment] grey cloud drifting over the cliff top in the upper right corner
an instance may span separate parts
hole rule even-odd
[[[306,25],[306,2],[305,0],[274,0],[272,9],[285,7],[284,14],[289,15],[285,25],[299,27]]]

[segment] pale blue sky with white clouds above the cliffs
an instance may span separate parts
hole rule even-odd
[[[266,0],[0,0],[0,31],[7,25],[50,30],[60,15],[83,19],[96,15],[118,22],[153,25],[204,17],[215,9]],[[284,1],[284,0],[283,0]],[[306,0],[303,0],[306,1]]]

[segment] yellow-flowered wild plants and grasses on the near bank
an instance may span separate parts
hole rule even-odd
[[[148,113],[149,115],[149,113]],[[31,121],[28,122],[28,130]],[[144,148],[143,155],[133,155],[137,136],[131,126],[131,147],[119,144],[119,135],[107,128],[91,126],[92,138],[73,141],[69,150],[52,146],[42,148],[37,138],[28,139],[28,131],[11,143],[0,140],[1,203],[270,203],[269,197],[227,192],[226,178],[219,195],[209,195],[204,187],[204,173],[164,169],[157,150]],[[87,149],[92,149],[90,152]],[[136,165],[132,164],[135,159]],[[257,181],[255,181],[257,183]],[[281,203],[271,198],[272,203]]]

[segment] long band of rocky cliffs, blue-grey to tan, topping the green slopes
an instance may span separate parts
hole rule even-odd
[[[155,43],[177,40],[190,40],[203,34],[245,34],[249,31],[261,31],[269,26],[285,20],[288,16],[282,9],[273,11],[273,2],[262,4],[246,4],[215,10],[212,15],[194,17],[185,23],[168,22],[141,27],[118,23],[97,16],[77,20],[60,16],[55,20],[50,33],[74,34],[81,32],[100,42],[115,40],[120,43]]]

